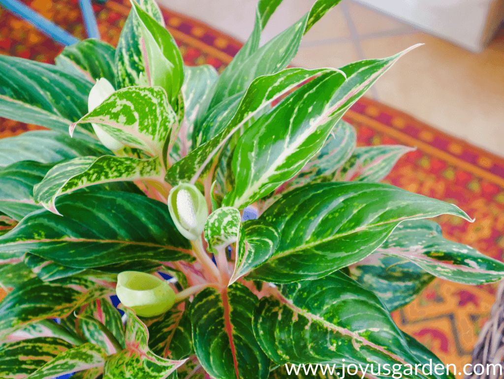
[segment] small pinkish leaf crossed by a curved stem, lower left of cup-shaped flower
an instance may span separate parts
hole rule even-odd
[[[93,317],[95,322],[81,317]],[[122,348],[124,348],[124,330],[119,312],[107,298],[96,299],[84,305],[77,319],[78,327],[89,342],[100,346],[107,354],[115,353],[115,346],[110,338],[97,326],[100,322],[112,334]],[[115,341],[114,341],[115,342]]]

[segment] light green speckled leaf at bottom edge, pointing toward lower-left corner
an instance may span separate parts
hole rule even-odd
[[[58,354],[26,379],[52,379],[56,375],[102,367],[105,358],[106,353],[101,347],[87,343]]]

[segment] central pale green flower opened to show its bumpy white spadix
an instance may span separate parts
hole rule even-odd
[[[192,184],[173,187],[168,196],[168,210],[178,231],[196,241],[205,228],[208,207],[205,197]]]

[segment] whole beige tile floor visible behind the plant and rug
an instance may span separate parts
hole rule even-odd
[[[256,0],[158,0],[245,41]],[[285,0],[263,33],[276,35],[311,6]],[[504,156],[504,38],[479,54],[432,37],[388,16],[343,0],[303,38],[293,64],[340,67],[384,58],[416,43],[367,96],[429,125]]]

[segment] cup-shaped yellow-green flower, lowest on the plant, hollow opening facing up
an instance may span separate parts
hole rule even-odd
[[[158,316],[175,303],[175,292],[168,282],[154,275],[124,271],[117,275],[117,297],[138,316]]]

